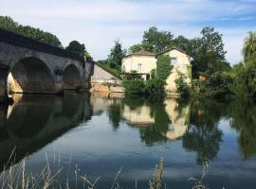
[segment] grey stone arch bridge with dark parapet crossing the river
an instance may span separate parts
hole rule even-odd
[[[0,29],[0,102],[12,93],[58,94],[89,88],[93,61]]]

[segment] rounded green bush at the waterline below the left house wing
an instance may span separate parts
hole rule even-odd
[[[121,82],[125,94],[144,94],[145,84],[141,79],[123,80]]]

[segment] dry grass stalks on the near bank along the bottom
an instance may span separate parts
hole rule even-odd
[[[9,168],[6,166],[4,171],[0,173],[0,189],[95,189],[97,188],[97,183],[101,181],[101,177],[98,177],[95,180],[89,180],[86,175],[81,175],[81,169],[77,164],[75,165],[75,170],[70,171],[71,158],[67,168],[67,175],[64,174],[64,169],[60,166],[60,155],[58,162],[55,163],[56,157],[54,154],[53,164],[49,163],[46,155],[46,166],[39,174],[33,174],[27,171],[26,160],[27,159],[25,158],[22,162],[17,164],[10,163],[11,161],[15,162],[15,149],[12,151],[7,163],[9,164]],[[203,174],[200,179],[189,179],[192,180],[192,189],[208,188],[203,184],[203,179],[209,168],[208,163],[203,167]],[[163,159],[160,159],[159,163],[155,165],[155,174],[153,175],[153,179],[149,181],[149,189],[167,188],[166,183],[162,182],[163,168],[164,162]],[[119,169],[119,172],[109,189],[125,188],[125,186],[120,186],[118,181],[121,170],[122,167]],[[62,180],[60,178],[62,178]],[[71,184],[69,180],[73,180]],[[134,188],[137,189],[137,181]]]

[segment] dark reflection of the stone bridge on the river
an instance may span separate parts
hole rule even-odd
[[[15,95],[15,103],[0,107],[1,169],[15,148],[14,163],[62,136],[92,116],[90,94]],[[10,161],[13,163],[13,161]]]

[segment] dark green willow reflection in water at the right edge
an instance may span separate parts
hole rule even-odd
[[[230,126],[240,134],[238,144],[243,159],[256,155],[256,106],[252,101],[237,100],[229,104]]]

